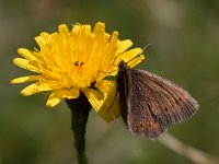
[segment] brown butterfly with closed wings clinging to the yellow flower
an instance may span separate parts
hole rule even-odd
[[[120,61],[117,74],[120,114],[134,134],[150,139],[163,133],[169,124],[195,114],[198,103],[175,83]]]

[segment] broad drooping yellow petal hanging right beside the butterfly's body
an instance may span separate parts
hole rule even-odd
[[[103,80],[96,87],[104,93],[103,99],[97,99],[95,94],[88,96],[89,102],[93,109],[107,122],[117,118],[119,114],[118,96],[116,96],[116,84]],[[84,92],[87,95],[87,92]]]

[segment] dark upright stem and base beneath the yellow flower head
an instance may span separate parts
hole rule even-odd
[[[85,156],[85,126],[91,105],[84,94],[77,99],[66,99],[71,109],[71,129],[74,137],[74,148],[79,164],[88,164]]]

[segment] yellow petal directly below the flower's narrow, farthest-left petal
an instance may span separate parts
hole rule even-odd
[[[39,82],[33,83],[21,91],[21,94],[24,96],[33,95],[39,92],[50,91],[53,90],[46,84],[42,84]]]

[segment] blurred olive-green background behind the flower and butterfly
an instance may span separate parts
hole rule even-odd
[[[34,37],[43,31],[97,21],[134,46],[152,44],[138,67],[181,84],[200,105],[169,132],[219,156],[219,1],[0,0],[0,164],[76,163],[67,105],[47,109],[45,95],[21,96],[26,84],[9,81],[31,72],[12,59],[19,47],[37,47]],[[92,110],[87,131],[91,164],[192,163],[158,141],[132,137],[120,118],[106,124]]]

